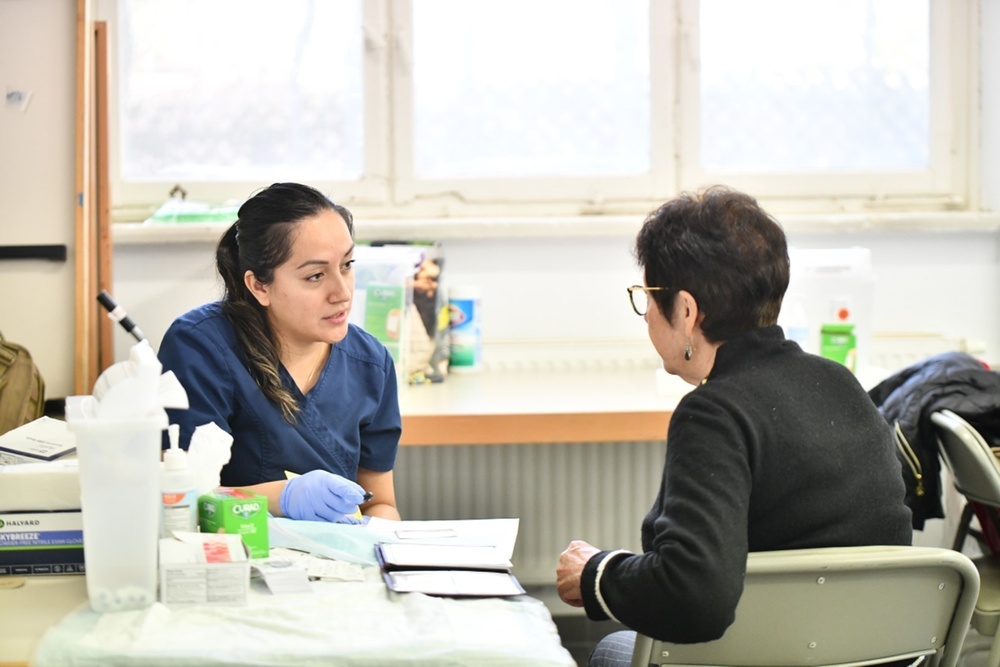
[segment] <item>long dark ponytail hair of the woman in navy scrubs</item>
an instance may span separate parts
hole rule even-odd
[[[247,289],[243,276],[252,271],[257,280],[270,284],[274,270],[292,252],[295,225],[326,210],[338,213],[354,238],[354,218],[346,208],[308,185],[275,183],[244,202],[215,251],[225,288],[222,312],[233,325],[250,376],[289,423],[295,423],[299,404],[281,381],[278,342],[267,309]]]

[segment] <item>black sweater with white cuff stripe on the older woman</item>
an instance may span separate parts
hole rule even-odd
[[[776,326],[739,336],[674,410],[643,553],[584,568],[587,615],[607,619],[606,605],[656,639],[717,639],[748,552],[910,544],[903,496],[892,433],[850,371]]]

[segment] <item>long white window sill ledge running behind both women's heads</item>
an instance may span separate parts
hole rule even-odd
[[[960,233],[1000,231],[1000,213],[844,213],[779,215],[789,234],[831,233]],[[359,241],[434,239],[573,238],[632,236],[642,216],[578,216],[551,218],[432,218],[362,219],[356,221]],[[149,225],[115,223],[116,245],[215,243],[225,223]]]

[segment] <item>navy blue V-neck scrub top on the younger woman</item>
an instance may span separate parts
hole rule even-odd
[[[286,470],[328,470],[355,481],[359,467],[392,470],[402,432],[396,370],[385,346],[363,329],[349,325],[305,396],[281,366],[301,407],[294,425],[250,377],[220,303],[178,317],[160,343],[159,359],[188,394],[190,408],[167,411],[180,426],[181,447],[209,422],[233,436],[223,486],[283,480]]]

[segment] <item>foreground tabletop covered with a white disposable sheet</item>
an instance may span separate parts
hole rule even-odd
[[[0,589],[0,665],[575,665],[539,600],[400,595],[359,571],[288,595],[254,580],[246,605],[110,614],[90,609],[84,577],[27,577]]]

